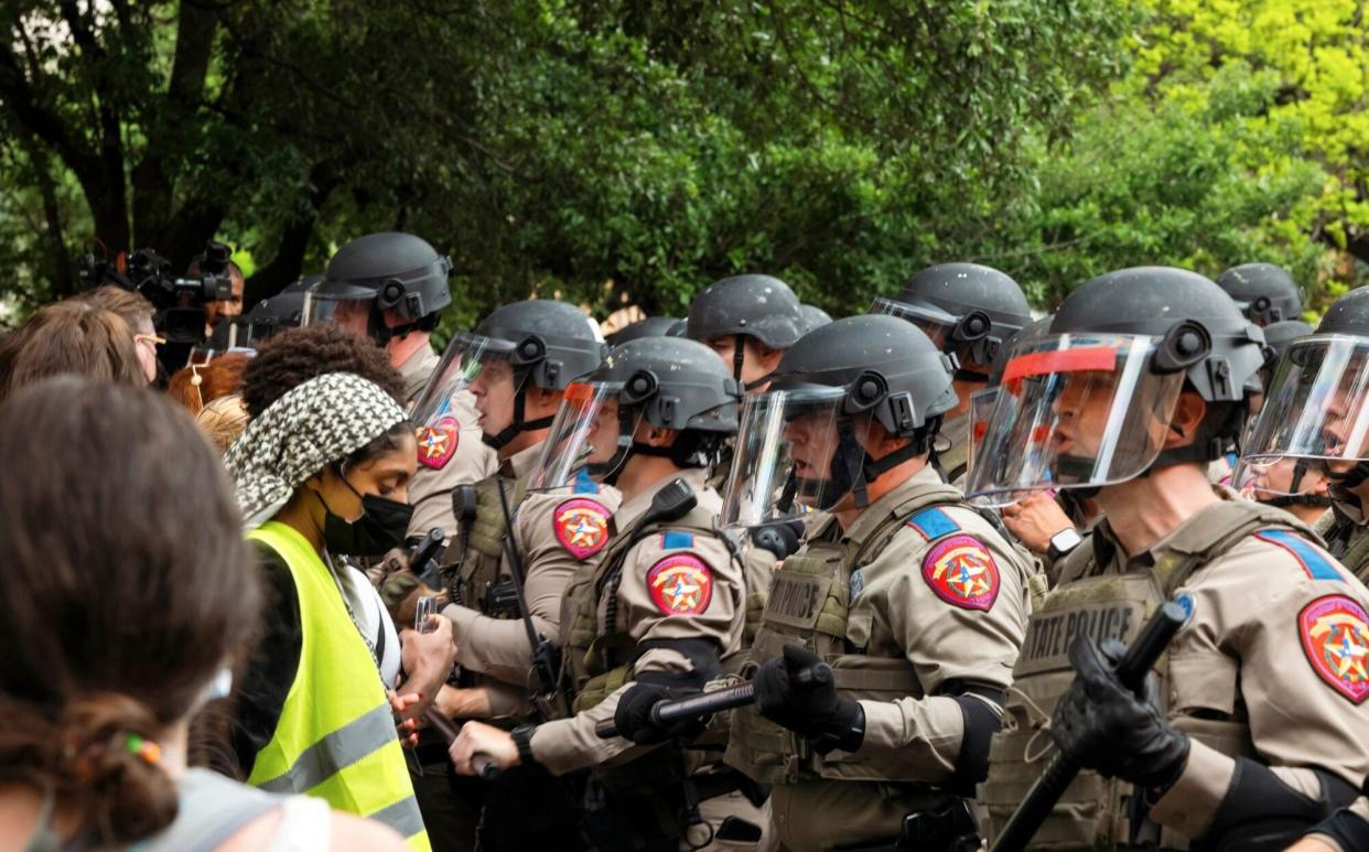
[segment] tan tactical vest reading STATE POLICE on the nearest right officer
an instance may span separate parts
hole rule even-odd
[[[1272,527],[1312,533],[1283,511],[1244,500],[1224,501],[1220,514],[1210,515],[1205,514],[1203,526],[1194,530],[1198,533],[1194,544],[1184,544],[1183,551],[1166,549],[1147,571],[1101,574],[1088,544],[1065,557],[1061,585],[1046,596],[1027,623],[1003,725],[990,745],[988,781],[979,788],[980,801],[988,812],[990,838],[1002,831],[1054,752],[1049,723],[1055,704],[1075,679],[1069,664],[1075,636],[1088,633],[1099,642],[1117,640],[1129,645],[1150,615],[1172,599],[1194,571],[1250,534]],[[1224,755],[1254,757],[1249,716],[1239,694],[1238,666],[1220,652],[1183,657],[1166,653],[1155,666],[1161,681],[1158,696],[1175,729]],[[1180,682],[1184,688],[1176,689]],[[1214,712],[1216,708],[1220,711]],[[1198,710],[1202,718],[1188,712]],[[1187,848],[1181,836],[1149,820],[1132,831],[1132,825],[1143,816],[1138,800],[1132,785],[1084,770],[1042,823],[1029,848]]]

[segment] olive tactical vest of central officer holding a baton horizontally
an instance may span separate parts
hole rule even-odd
[[[893,505],[861,538],[835,541],[838,533],[832,523],[826,534],[810,538],[804,551],[786,559],[782,570],[775,571],[761,627],[742,674],[752,677],[761,663],[779,656],[784,645],[793,642],[813,651],[832,667],[836,689],[845,696],[875,701],[921,699],[921,682],[905,656],[876,657],[856,645],[858,640],[853,638],[849,619],[850,584],[852,574],[873,562],[904,522],[936,505],[971,508],[957,489],[935,484]],[[819,755],[805,738],[763,718],[754,707],[732,712],[727,763],[761,784],[812,778],[886,782],[906,774],[897,752]],[[917,785],[898,786],[904,794]]]

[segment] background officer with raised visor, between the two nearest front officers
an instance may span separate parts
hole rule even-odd
[[[988,385],[994,356],[1012,334],[1031,322],[1031,308],[1017,282],[977,263],[939,263],[913,275],[893,299],[876,299],[871,314],[901,316],[954,355],[956,396],[946,412],[936,464],[946,481],[962,484],[969,460],[969,400]]]

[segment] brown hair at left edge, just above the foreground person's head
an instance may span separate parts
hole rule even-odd
[[[127,323],[81,301],[49,304],[0,341],[0,403],[22,385],[63,373],[148,384]]]

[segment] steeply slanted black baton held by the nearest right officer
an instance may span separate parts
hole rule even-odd
[[[1131,690],[1140,689],[1146,681],[1146,674],[1155,664],[1160,655],[1165,652],[1170,640],[1184,626],[1188,614],[1175,601],[1165,601],[1160,610],[1150,616],[1146,626],[1140,629],[1140,636],[1127,648],[1127,653],[1117,662],[1117,679]],[[1002,833],[994,841],[991,852],[1021,852],[1027,848],[1027,841],[1036,834],[1040,823],[1046,822],[1051,808],[1065,794],[1065,788],[1079,774],[1080,766],[1061,752],[1050,759],[1046,771],[1027,790],[1027,797],[1017,805],[1008,819]]]

